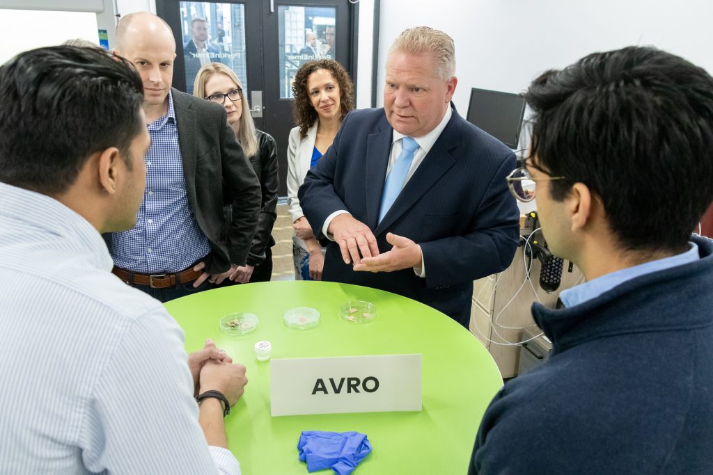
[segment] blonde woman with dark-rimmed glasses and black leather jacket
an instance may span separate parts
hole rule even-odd
[[[262,191],[262,209],[252,238],[250,254],[245,266],[233,266],[230,281],[238,283],[265,282],[272,276],[272,226],[277,219],[277,145],[270,135],[255,129],[250,116],[250,105],[242,91],[240,79],[235,72],[222,63],[210,63],[200,68],[193,83],[193,95],[225,107],[227,123],[235,132],[245,156],[255,169]],[[223,183],[225,219],[230,221],[232,206],[227,199],[230,194]],[[227,229],[227,226],[226,226]],[[216,282],[220,284],[220,282]]]

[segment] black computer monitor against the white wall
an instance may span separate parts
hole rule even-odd
[[[518,147],[525,115],[525,99],[520,94],[473,88],[468,105],[468,122],[480,127],[511,149]]]

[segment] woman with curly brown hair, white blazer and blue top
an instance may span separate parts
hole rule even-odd
[[[292,214],[294,278],[322,280],[324,253],[299,207],[297,189],[310,168],[327,152],[344,116],[354,109],[354,86],[337,61],[304,63],[292,84],[294,127],[287,149],[287,204]]]

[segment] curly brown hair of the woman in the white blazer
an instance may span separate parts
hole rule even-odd
[[[341,64],[333,59],[319,59],[304,63],[294,75],[294,83],[292,83],[292,96],[294,97],[292,115],[294,115],[294,123],[299,125],[299,136],[303,139],[307,137],[307,129],[312,127],[318,117],[317,110],[314,110],[312,102],[309,100],[307,79],[310,74],[319,69],[326,69],[332,73],[332,77],[339,84],[339,111],[342,113],[339,121],[344,120],[344,116],[354,109],[354,85]]]

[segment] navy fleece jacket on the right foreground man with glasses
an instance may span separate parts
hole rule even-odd
[[[552,353],[493,398],[468,474],[713,474],[713,241],[691,241],[699,259],[533,304]]]

